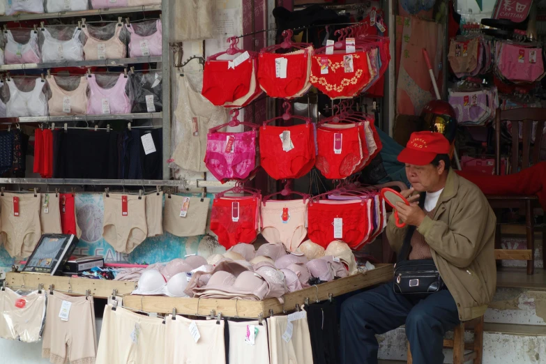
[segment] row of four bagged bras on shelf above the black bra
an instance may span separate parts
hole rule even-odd
[[[31,31],[5,30],[6,46],[0,61],[1,64],[24,64],[126,58],[126,44],[120,39],[123,28],[130,36],[130,57],[161,56],[161,20],[153,20],[54,30],[47,26]],[[38,41],[40,34],[41,42]]]

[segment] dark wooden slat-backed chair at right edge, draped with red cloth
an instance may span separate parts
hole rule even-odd
[[[536,165],[540,160],[540,144],[543,141],[543,128],[546,121],[546,109],[537,107],[522,107],[519,109],[496,109],[495,119],[495,173],[501,171],[501,121],[512,123],[511,172],[517,173],[530,165]],[[534,146],[531,146],[533,121],[537,121]],[[522,125],[522,158],[520,162],[520,124]],[[535,271],[535,236],[533,208],[540,208],[535,195],[488,195],[487,200],[494,209],[496,220],[495,257],[496,259],[515,259],[527,261],[527,274]],[[501,250],[500,211],[503,208],[519,208],[525,211],[526,250]],[[543,255],[546,253],[546,224],[543,225]]]

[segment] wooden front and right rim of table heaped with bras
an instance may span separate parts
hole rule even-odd
[[[271,316],[271,312],[282,314],[285,311],[295,310],[296,305],[301,307],[317,301],[326,301],[329,298],[358,289],[388,282],[393,279],[393,274],[393,264],[377,264],[375,269],[365,273],[358,273],[285,294],[283,296],[284,304],[280,303],[277,298],[268,298],[264,301],[243,301],[134,295],[123,297],[123,307],[165,314],[171,313],[173,308],[176,308],[178,314],[201,316],[206,316],[214,310],[215,314],[221,313],[225,317],[266,318]]]

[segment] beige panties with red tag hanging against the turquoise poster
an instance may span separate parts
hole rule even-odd
[[[127,215],[121,215],[121,197],[127,196]],[[116,252],[130,253],[148,234],[146,224],[146,196],[103,194],[105,218],[103,238]]]

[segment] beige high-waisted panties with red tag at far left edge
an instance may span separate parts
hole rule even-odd
[[[19,197],[19,216],[13,215],[13,197]],[[40,196],[8,193],[0,196],[0,235],[10,257],[29,257],[40,241]]]

